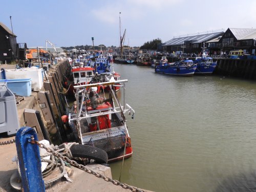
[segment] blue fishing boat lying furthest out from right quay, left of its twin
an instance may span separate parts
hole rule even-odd
[[[193,60],[186,59],[184,61],[176,61],[173,63],[159,63],[155,67],[156,73],[163,73],[178,76],[193,76],[197,69],[197,64]]]

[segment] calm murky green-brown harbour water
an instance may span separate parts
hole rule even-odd
[[[126,83],[133,157],[121,181],[154,191],[256,191],[256,82],[114,66]],[[118,93],[119,96],[122,93]],[[111,164],[119,179],[122,162]]]

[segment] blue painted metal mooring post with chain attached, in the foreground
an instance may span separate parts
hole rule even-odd
[[[22,186],[25,192],[45,191],[42,180],[41,159],[37,144],[30,143],[31,136],[37,141],[34,129],[28,126],[20,128],[16,134],[16,149],[18,154]]]

